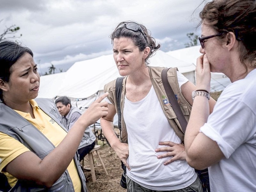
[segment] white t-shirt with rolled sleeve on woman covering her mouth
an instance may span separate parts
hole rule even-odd
[[[200,131],[226,158],[209,167],[211,192],[256,191],[256,69],[228,85]]]

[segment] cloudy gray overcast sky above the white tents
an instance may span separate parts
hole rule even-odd
[[[201,35],[202,1],[0,0],[0,34],[19,26],[15,36],[22,34],[19,41],[32,49],[41,74],[50,63],[66,71],[76,61],[111,54],[109,35],[126,20],[144,24],[164,52],[184,48],[187,33]]]

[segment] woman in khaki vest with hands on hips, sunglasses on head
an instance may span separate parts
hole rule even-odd
[[[127,167],[127,191],[202,191],[195,170],[186,162],[176,116],[165,97],[161,72],[149,67],[148,58],[160,48],[145,26],[121,22],[111,34],[113,56],[119,74],[124,76],[121,95],[122,131],[118,140],[113,118],[117,111],[116,80],[104,87],[108,95],[108,115],[101,128],[117,156]],[[191,110],[195,85],[176,68],[168,71],[178,102],[185,116]],[[177,83],[176,83],[177,82]],[[166,101],[166,102],[164,102]],[[215,101],[210,100],[209,112]]]

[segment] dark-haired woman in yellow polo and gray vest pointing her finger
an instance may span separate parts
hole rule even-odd
[[[53,100],[38,98],[40,76],[27,47],[0,43],[0,171],[12,191],[87,191],[76,155],[85,128],[108,114],[96,100],[67,133]]]

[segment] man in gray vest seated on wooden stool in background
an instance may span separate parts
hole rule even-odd
[[[75,124],[76,120],[82,115],[81,110],[71,106],[70,99],[66,96],[62,96],[55,101],[55,104],[62,116],[65,123],[66,129],[69,131],[70,128]],[[78,154],[80,161],[84,159],[95,145],[96,137],[93,134],[90,127],[87,127],[82,141],[78,147]]]

